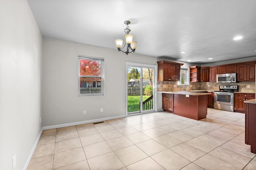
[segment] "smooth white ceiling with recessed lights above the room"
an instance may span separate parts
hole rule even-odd
[[[27,1],[48,38],[116,49],[130,20],[138,54],[191,63],[256,56],[256,0]]]

